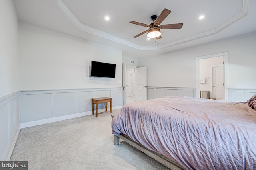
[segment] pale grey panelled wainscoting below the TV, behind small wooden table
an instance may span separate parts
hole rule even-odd
[[[112,97],[112,109],[122,107],[122,88],[22,91],[21,127],[90,115],[92,98],[98,97]],[[105,109],[106,104],[98,104],[98,112]]]

